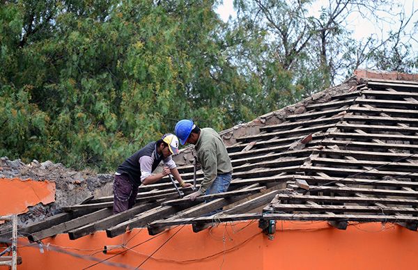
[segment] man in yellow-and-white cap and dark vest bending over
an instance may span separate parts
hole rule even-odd
[[[165,134],[160,140],[148,143],[118,166],[114,180],[114,214],[134,206],[139,185],[153,184],[170,173],[180,186],[192,186],[183,182],[176,163],[171,159],[171,154],[177,153],[178,138],[173,134]],[[161,161],[164,163],[162,172],[153,174]]]

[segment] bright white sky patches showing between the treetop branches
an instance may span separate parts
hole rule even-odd
[[[405,10],[405,13],[407,15],[410,15],[412,13],[412,10],[418,9],[417,0],[397,0],[396,2],[400,4],[400,7],[390,7],[392,14],[396,14],[398,13],[398,11]],[[314,1],[314,3],[311,6],[311,10],[309,10],[309,15],[318,15],[320,12],[320,7],[324,3],[326,4],[327,1]],[[235,17],[236,12],[235,10],[233,10],[233,0],[224,0],[223,5],[219,5],[219,7],[217,8],[217,13],[221,17],[221,19],[224,20],[224,22],[226,22],[229,19],[229,16]],[[376,13],[381,18],[379,22],[372,22],[371,20],[367,19],[367,17],[371,16],[362,16],[358,13],[355,13],[352,16],[348,17],[348,27],[351,31],[353,31],[353,36],[355,36],[357,40],[367,38],[371,34],[385,38],[385,33],[387,33],[387,31],[389,31],[390,29],[396,30],[399,26],[398,17],[389,17],[389,15],[385,12],[376,11]],[[412,29],[414,22],[418,22],[418,13],[415,13],[414,17],[412,18],[409,29]],[[380,29],[384,29],[385,33],[381,33]],[[412,42],[414,50],[418,53],[418,38],[417,40],[410,40],[410,42]]]

